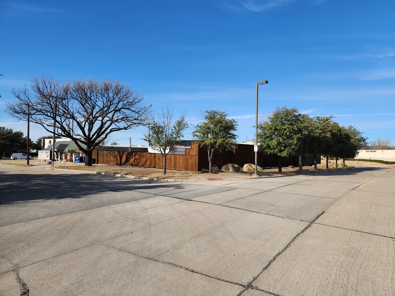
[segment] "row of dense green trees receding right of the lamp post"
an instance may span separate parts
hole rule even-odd
[[[302,169],[302,155],[314,156],[314,168],[317,157],[325,156],[326,168],[330,157],[354,158],[358,150],[365,146],[367,138],[355,126],[341,126],[333,116],[308,116],[296,108],[277,108],[268,120],[258,124],[259,151],[279,157],[296,156],[299,169]]]

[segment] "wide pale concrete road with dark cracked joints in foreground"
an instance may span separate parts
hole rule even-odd
[[[0,165],[0,295],[395,295],[395,171],[189,183]]]

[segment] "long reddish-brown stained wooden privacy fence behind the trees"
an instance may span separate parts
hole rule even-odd
[[[126,152],[126,151],[95,151],[93,157],[97,164],[138,166],[144,168],[163,169],[163,157],[161,154],[148,152]],[[320,159],[317,160],[320,163]],[[254,164],[255,156],[253,145],[238,144],[234,151],[215,153],[213,165],[222,167],[228,163],[243,167],[245,164]],[[297,166],[296,157],[281,158],[283,167]],[[303,165],[313,165],[312,156],[303,156]],[[258,153],[258,166],[263,168],[277,167],[278,157],[275,155],[263,155]],[[177,171],[200,172],[209,168],[207,150],[195,142],[185,147],[185,155],[169,154],[166,158],[166,169]]]

